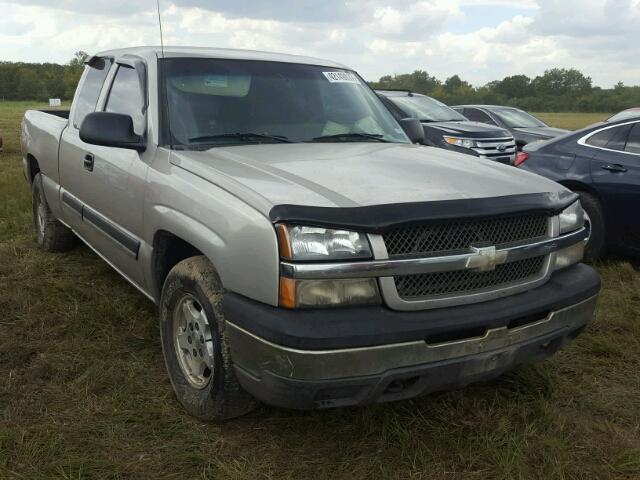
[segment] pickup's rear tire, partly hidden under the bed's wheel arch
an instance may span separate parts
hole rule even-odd
[[[33,229],[38,246],[47,252],[66,252],[78,244],[78,238],[53,216],[42,187],[42,174],[33,179],[31,191]]]

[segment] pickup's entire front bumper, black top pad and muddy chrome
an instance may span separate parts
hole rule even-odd
[[[223,306],[242,387],[311,409],[456,389],[541,360],[585,328],[599,290],[598,274],[578,264],[528,292],[425,311],[296,311],[235,294]]]

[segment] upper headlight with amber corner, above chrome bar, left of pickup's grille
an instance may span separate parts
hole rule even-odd
[[[354,260],[371,258],[367,236],[348,230],[278,225],[280,256],[287,260]]]

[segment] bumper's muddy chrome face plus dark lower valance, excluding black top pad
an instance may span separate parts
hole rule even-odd
[[[243,388],[270,405],[313,409],[387,402],[463,387],[552,355],[593,315],[596,297],[516,328],[428,344],[296,350],[229,324]]]

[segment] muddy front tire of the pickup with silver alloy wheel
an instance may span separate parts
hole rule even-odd
[[[222,284],[204,256],[178,263],[160,299],[160,336],[178,401],[193,416],[223,421],[256,402],[240,387],[225,334]]]

